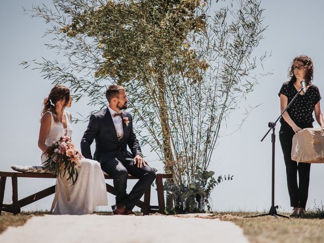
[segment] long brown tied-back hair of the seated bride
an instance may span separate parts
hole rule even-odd
[[[59,122],[58,115],[55,110],[55,104],[59,100],[62,100],[65,98],[65,103],[62,107],[64,109],[66,105],[69,103],[70,100],[70,89],[63,85],[56,85],[51,90],[48,97],[44,99],[43,102],[43,110],[41,112],[41,116],[43,116],[47,111],[51,111],[53,114],[53,119],[55,123]]]

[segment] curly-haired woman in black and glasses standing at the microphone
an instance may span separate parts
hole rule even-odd
[[[319,100],[321,99],[318,88],[312,85],[313,62],[307,56],[295,57],[289,69],[290,81],[282,85],[280,96],[281,112],[301,89],[301,80],[306,82],[306,93],[302,91],[297,96],[293,104],[282,115],[280,119],[281,127],[279,139],[286,164],[287,184],[290,196],[290,204],[294,208],[291,216],[302,216],[305,213],[306,201],[308,197],[310,164],[297,163],[292,160],[292,140],[295,133],[304,128],[313,127],[313,111],[320,125],[324,127],[324,120],[320,110]],[[297,171],[299,176],[299,186],[297,184]]]

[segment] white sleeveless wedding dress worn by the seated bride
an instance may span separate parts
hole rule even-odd
[[[62,123],[55,123],[52,116],[51,129],[46,138],[45,144],[50,146],[62,136],[71,137],[72,127],[70,114],[65,111],[66,129],[63,128]],[[42,156],[42,164],[46,160],[46,156]],[[108,205],[105,179],[96,160],[83,158],[79,164],[78,177],[74,185],[72,181],[68,180],[68,188],[70,193],[70,200],[64,190],[63,179],[60,177],[56,181],[56,190],[58,191],[58,199],[54,209],[54,214],[70,214],[83,215],[91,214],[96,210],[97,206]]]

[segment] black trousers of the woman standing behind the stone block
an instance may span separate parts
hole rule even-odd
[[[297,126],[303,129],[313,127],[312,124],[299,124]],[[288,124],[281,124],[279,139],[286,164],[290,206],[305,209],[308,198],[310,164],[297,163],[292,160],[292,144],[294,135],[294,130]],[[297,183],[297,172],[299,176],[299,185]]]

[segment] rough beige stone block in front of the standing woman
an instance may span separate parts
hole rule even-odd
[[[306,128],[296,133],[292,159],[303,163],[324,163],[324,129]]]

